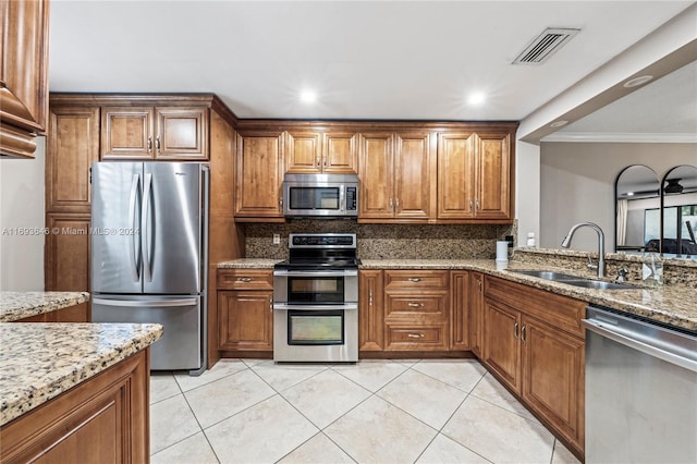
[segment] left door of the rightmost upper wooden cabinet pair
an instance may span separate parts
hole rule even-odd
[[[438,134],[438,218],[475,213],[475,146],[472,133]]]

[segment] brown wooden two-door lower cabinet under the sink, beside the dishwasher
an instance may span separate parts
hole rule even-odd
[[[584,308],[584,302],[485,278],[482,363],[580,457]]]

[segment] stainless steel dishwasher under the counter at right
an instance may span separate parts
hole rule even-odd
[[[697,333],[588,306],[586,463],[697,462]]]

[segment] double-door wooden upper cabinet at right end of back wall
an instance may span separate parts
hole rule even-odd
[[[438,219],[513,219],[509,132],[438,135]]]

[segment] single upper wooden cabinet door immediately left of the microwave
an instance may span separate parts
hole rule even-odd
[[[282,133],[239,132],[235,167],[235,216],[282,218]]]

